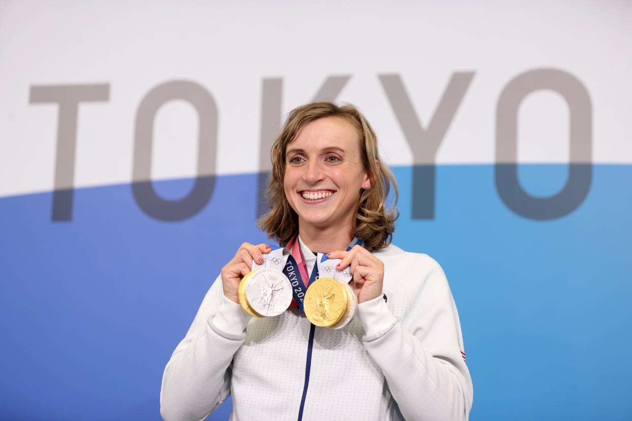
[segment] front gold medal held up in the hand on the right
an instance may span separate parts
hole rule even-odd
[[[305,316],[316,326],[330,328],[343,317],[347,300],[342,283],[332,278],[319,278],[305,292]]]

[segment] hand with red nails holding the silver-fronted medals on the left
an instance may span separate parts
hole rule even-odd
[[[222,286],[224,296],[239,304],[237,288],[241,278],[250,273],[252,261],[262,264],[265,261],[264,254],[268,254],[272,249],[265,244],[254,246],[249,242],[241,244],[239,250],[231,261],[222,268]]]

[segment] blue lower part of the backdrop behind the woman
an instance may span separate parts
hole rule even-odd
[[[520,182],[554,194],[567,168],[520,165]],[[470,419],[629,419],[632,165],[595,165],[581,206],[549,221],[507,209],[492,165],[437,167],[435,218],[411,220],[411,169],[394,172],[394,244],[437,259],[459,308]],[[154,183],[171,199],[191,186]],[[181,222],[145,215],[129,184],[76,190],[71,222],[51,223],[52,193],[0,199],[2,417],[160,419],[162,370],[205,292],[241,242],[267,242],[256,189],[217,177]]]

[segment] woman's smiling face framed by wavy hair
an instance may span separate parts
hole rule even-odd
[[[299,227],[351,230],[360,189],[367,184],[360,136],[344,119],[309,122],[286,148],[283,185]]]

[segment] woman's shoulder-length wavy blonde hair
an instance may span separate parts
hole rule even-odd
[[[289,205],[283,189],[286,169],[285,152],[289,143],[296,139],[306,124],[324,117],[344,119],[358,132],[363,167],[373,187],[360,190],[360,201],[351,234],[363,239],[368,247],[382,249],[391,244],[395,220],[399,216],[399,211],[395,207],[398,199],[397,182],[389,167],[380,161],[377,153],[377,136],[367,119],[353,105],[339,106],[332,102],[313,102],[301,105],[289,113],[270,151],[272,174],[266,191],[270,211],[262,216],[257,225],[267,232],[270,239],[277,240],[281,246],[286,246],[298,232],[298,215]],[[386,199],[391,186],[394,190],[394,198],[387,206]]]

